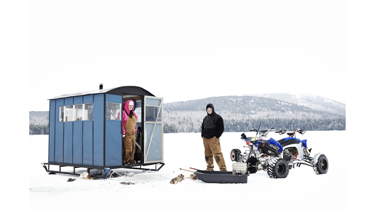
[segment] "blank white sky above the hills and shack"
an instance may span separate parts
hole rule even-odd
[[[345,100],[345,1],[30,1],[30,111],[140,86],[165,103],[305,93]]]

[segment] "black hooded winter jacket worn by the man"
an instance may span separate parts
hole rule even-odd
[[[203,119],[201,136],[207,139],[213,137],[220,138],[224,132],[224,120],[219,114],[215,113],[215,109],[212,104],[208,105],[212,107],[212,113],[207,113],[207,116]]]

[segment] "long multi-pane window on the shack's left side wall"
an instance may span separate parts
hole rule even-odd
[[[93,104],[65,105],[59,109],[59,122],[92,120]]]

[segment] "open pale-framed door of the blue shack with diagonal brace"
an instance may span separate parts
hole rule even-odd
[[[163,98],[145,96],[144,162],[163,162]]]

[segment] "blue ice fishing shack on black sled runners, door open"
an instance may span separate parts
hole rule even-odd
[[[122,103],[135,102],[137,120],[135,165],[122,164]],[[75,174],[76,168],[144,169],[164,164],[163,98],[138,86],[64,94],[49,99],[47,172]],[[51,170],[50,166],[58,166]],[[73,167],[73,172],[62,171]],[[147,170],[150,169],[149,167]]]

